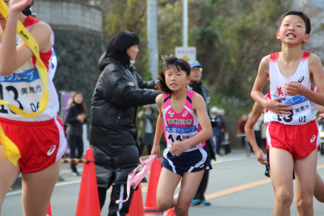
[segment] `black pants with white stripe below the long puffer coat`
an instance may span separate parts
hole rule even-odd
[[[99,193],[99,202],[100,202],[100,211],[105,204],[107,189],[98,187]],[[123,199],[127,198],[127,185],[113,185],[112,191],[110,194],[110,204],[109,204],[109,212],[108,216],[126,216],[129,211],[131,200],[134,194],[134,189],[131,188],[131,194],[129,199],[126,202],[116,204],[116,200],[120,199],[120,195],[122,195]],[[119,212],[119,214],[117,214]]]

